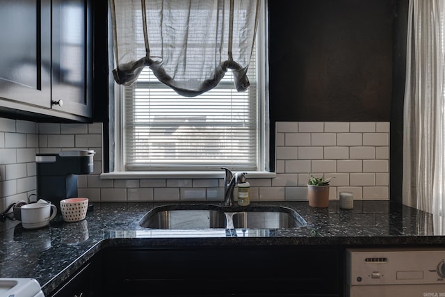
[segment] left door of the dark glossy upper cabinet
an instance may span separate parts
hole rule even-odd
[[[50,107],[51,2],[0,1],[0,97]]]

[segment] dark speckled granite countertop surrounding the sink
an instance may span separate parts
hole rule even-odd
[[[175,202],[94,203],[94,210],[81,222],[65,223],[58,214],[49,226],[39,230],[25,230],[18,221],[6,220],[0,223],[5,224],[0,232],[0,278],[35,278],[47,295],[98,250],[113,246],[357,247],[445,243],[445,234],[437,234],[434,229],[432,214],[382,201],[355,201],[352,210],[339,209],[336,201],[330,202],[328,209],[312,208],[307,202],[257,202],[295,209],[307,226],[236,230],[233,236],[225,230],[147,230],[138,225],[147,211],[162,204]]]

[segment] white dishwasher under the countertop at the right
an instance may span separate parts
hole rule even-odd
[[[445,248],[349,248],[347,297],[445,297]]]

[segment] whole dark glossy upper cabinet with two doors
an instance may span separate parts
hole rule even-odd
[[[90,6],[90,0],[0,1],[0,116],[90,121]]]

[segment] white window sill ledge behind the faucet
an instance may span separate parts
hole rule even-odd
[[[275,172],[267,171],[248,171],[246,177],[249,179],[259,178],[275,178]],[[224,171],[139,171],[139,172],[106,172],[100,175],[101,179],[209,179],[224,178]]]

